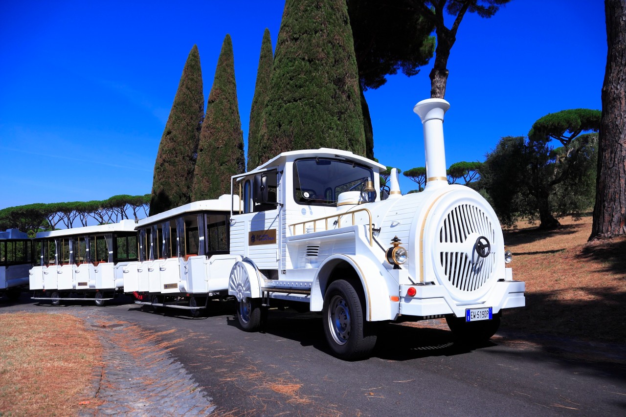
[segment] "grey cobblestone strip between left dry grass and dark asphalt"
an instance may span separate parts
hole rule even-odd
[[[215,409],[158,335],[100,312],[63,312],[85,320],[103,345],[93,401],[85,401],[79,416],[206,416]]]

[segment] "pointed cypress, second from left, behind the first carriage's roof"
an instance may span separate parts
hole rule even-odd
[[[207,115],[200,131],[192,200],[218,198],[230,193],[231,175],[244,171],[244,133],[237,104],[235,59],[232,41],[227,34],[208,95]]]

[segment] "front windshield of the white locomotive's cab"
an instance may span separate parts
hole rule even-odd
[[[374,180],[371,168],[354,162],[300,159],[294,163],[294,198],[299,204],[336,205],[342,192],[364,192],[368,180]],[[369,202],[376,199],[375,192],[366,195]]]

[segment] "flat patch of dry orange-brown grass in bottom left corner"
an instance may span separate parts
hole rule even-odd
[[[0,314],[0,415],[75,415],[101,354],[69,314]]]

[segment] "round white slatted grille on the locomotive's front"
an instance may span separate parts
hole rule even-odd
[[[461,204],[450,210],[439,224],[439,260],[448,284],[464,292],[480,289],[496,263],[496,232],[491,220],[475,205]],[[491,243],[491,252],[485,258],[472,252],[478,235]]]

